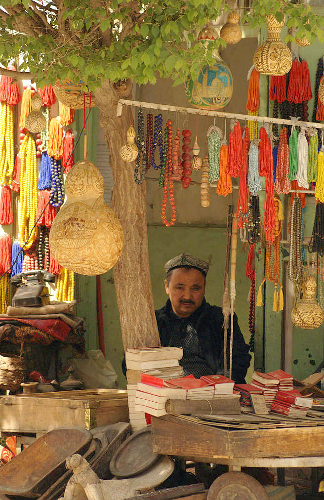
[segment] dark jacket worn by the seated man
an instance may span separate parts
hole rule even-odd
[[[161,346],[169,345],[170,339],[170,312],[171,302],[168,299],[164,307],[155,311],[157,328],[160,336]],[[196,331],[200,341],[201,350],[210,366],[210,373],[223,373],[223,338],[222,327],[223,314],[221,307],[210,305],[203,299],[196,315]],[[195,311],[196,312],[196,311]],[[194,314],[194,313],[193,313]],[[227,331],[227,370],[229,367],[229,339],[230,339],[230,317]],[[233,350],[232,350],[232,379],[236,383],[244,383],[247,368],[251,356],[248,353],[248,345],[244,342],[243,335],[234,314],[233,321]]]

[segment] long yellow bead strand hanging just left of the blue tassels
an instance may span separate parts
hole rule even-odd
[[[20,207],[19,241],[28,250],[37,238],[35,216],[37,211],[37,163],[36,145],[27,133],[20,146]],[[28,238],[29,237],[29,238]],[[27,241],[28,239],[28,241]]]

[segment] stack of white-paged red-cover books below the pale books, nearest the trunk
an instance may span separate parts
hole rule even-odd
[[[138,382],[135,391],[134,409],[153,416],[166,414],[166,399],[185,399],[186,390],[168,387],[166,382],[158,377],[142,373],[142,382]]]

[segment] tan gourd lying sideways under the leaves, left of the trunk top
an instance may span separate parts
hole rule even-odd
[[[83,92],[82,86],[84,83],[79,80],[78,84],[71,80],[56,80],[53,85],[54,93],[57,99],[65,106],[72,109],[83,109],[84,105],[89,107],[95,105],[94,98],[90,92]]]

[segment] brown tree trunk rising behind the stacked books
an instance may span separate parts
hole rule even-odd
[[[134,182],[134,163],[119,156],[132,112],[124,106],[121,116],[116,117],[117,102],[131,98],[131,88],[129,80],[119,85],[106,80],[94,92],[113,173],[111,207],[124,233],[124,246],[113,268],[124,348],[160,345],[148,263],[145,183],[139,186]]]

